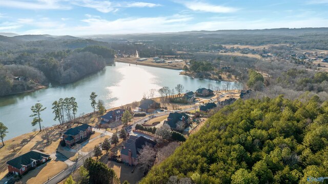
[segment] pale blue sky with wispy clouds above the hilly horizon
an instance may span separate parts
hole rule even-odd
[[[328,0],[0,0],[0,32],[91,35],[328,27]]]

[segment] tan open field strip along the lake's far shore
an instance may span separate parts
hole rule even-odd
[[[144,65],[144,66],[150,66],[150,67],[159,67],[159,68],[167,68],[167,69],[174,69],[174,70],[182,70],[183,66],[186,65],[185,62],[179,62],[179,63],[153,63],[153,58],[147,58],[148,60],[145,60],[144,62],[136,62],[137,57],[119,57],[115,58],[115,62],[120,62],[120,63],[129,63],[133,65]],[[171,60],[171,59],[169,59]]]

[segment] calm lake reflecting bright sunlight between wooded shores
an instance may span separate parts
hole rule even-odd
[[[30,93],[0,97],[0,122],[3,122],[9,133],[10,139],[15,136],[30,132],[33,128],[31,121],[31,106],[41,103],[47,107],[42,112],[42,126],[58,124],[54,121],[51,104],[59,98],[76,98],[78,112],[89,113],[93,109],[90,106],[89,96],[92,91],[98,95],[97,99],[105,101],[106,108],[117,107],[138,101],[144,93],[151,89],[159,89],[168,86],[171,89],[177,84],[182,84],[185,90],[195,91],[199,87],[207,88],[209,84],[220,86],[220,82],[207,79],[194,79],[185,75],[179,75],[178,70],[154,68],[147,66],[135,66],[124,63],[116,63],[116,66],[107,66],[103,71],[85,77],[75,83],[67,85],[50,85],[47,89],[41,89]],[[233,85],[231,85],[233,86]],[[159,96],[156,92],[155,96]]]

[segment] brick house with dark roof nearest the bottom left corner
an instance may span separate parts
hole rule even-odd
[[[29,151],[14,159],[7,161],[8,172],[16,175],[23,175],[29,170],[45,163],[50,159],[50,155],[37,150]]]

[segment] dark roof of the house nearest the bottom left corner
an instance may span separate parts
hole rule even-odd
[[[41,160],[43,157],[49,157],[50,155],[44,154],[42,152],[39,152],[37,150],[29,151],[23,155],[20,155],[14,159],[11,159],[7,161],[6,163],[10,166],[13,166],[17,169],[22,168],[22,166],[29,165],[34,160]]]

